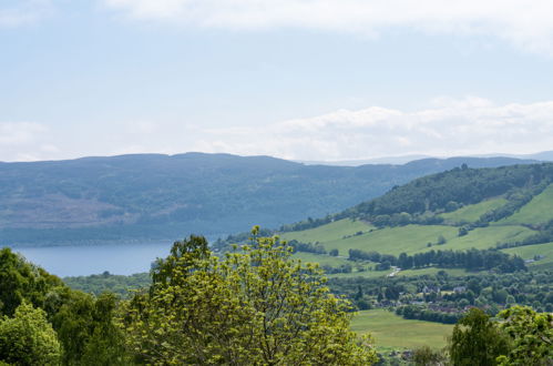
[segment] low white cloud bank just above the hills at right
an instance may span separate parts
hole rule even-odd
[[[414,112],[382,108],[341,110],[263,129],[204,130],[193,150],[294,160],[355,160],[532,153],[553,148],[553,101],[495,105],[467,98],[442,99]]]

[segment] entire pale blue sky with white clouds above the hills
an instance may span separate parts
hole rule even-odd
[[[549,150],[551,0],[0,0],[0,161]]]

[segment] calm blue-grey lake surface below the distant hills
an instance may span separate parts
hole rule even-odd
[[[168,255],[172,244],[166,242],[160,244],[16,247],[12,250],[60,277],[84,276],[104,271],[112,274],[130,275],[149,272],[156,257]]]

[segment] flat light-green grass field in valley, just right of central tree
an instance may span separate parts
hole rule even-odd
[[[386,309],[359,312],[351,322],[351,329],[359,334],[370,333],[378,348],[432,348],[446,346],[446,337],[453,325],[409,321]]]

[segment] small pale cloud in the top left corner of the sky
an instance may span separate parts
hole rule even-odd
[[[0,28],[31,24],[49,16],[53,10],[51,0],[18,0],[0,4]]]

